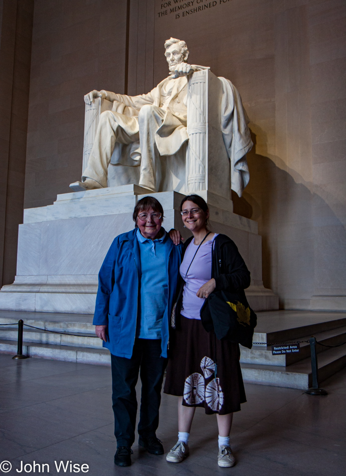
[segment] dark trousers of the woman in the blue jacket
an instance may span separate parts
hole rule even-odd
[[[160,357],[161,340],[136,339],[130,359],[111,354],[114,434],[117,446],[131,447],[134,442],[137,399],[135,386],[140,372],[142,392],[138,434],[154,434],[167,359]]]

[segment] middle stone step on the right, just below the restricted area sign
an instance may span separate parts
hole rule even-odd
[[[311,336],[304,336],[298,338],[298,340],[309,340]],[[332,329],[325,332],[315,333],[314,337],[317,342],[321,342],[325,345],[338,345],[342,342],[346,342],[346,326]],[[261,365],[275,365],[280,367],[286,367],[299,360],[310,357],[310,343],[301,342],[300,350],[294,354],[272,355],[271,346],[254,345],[252,349],[240,346],[240,362],[241,363],[253,363]],[[324,352],[327,347],[317,345],[317,352]]]

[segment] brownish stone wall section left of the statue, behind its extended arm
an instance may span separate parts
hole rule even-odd
[[[126,2],[35,0],[25,207],[80,179],[84,94],[124,92]]]

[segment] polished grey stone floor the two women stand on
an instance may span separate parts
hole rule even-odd
[[[216,417],[197,409],[190,456],[168,463],[133,445],[133,464],[114,466],[110,368],[41,359],[14,361],[0,355],[0,463],[12,469],[54,461],[89,465],[90,476],[343,476],[346,467],[346,369],[323,382],[326,397],[301,390],[246,386],[247,403],[235,414],[233,468],[219,468]],[[157,436],[165,450],[177,440],[176,398],[163,395]],[[1,469],[6,466],[0,464]],[[30,466],[26,466],[30,470]],[[22,471],[22,474],[38,474]],[[72,468],[73,469],[73,468]],[[84,467],[84,469],[86,469]],[[4,472],[5,474],[5,472]],[[48,474],[47,466],[40,474]]]

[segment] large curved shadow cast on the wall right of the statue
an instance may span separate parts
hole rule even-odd
[[[266,133],[255,127],[266,144]],[[346,232],[325,190],[305,182],[279,157],[257,154],[256,134],[251,138],[250,182],[241,198],[232,192],[232,199],[235,213],[258,222],[264,286],[279,295],[280,307],[285,299],[310,299],[316,290],[333,295],[346,282]]]

